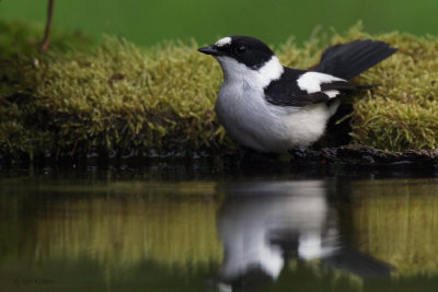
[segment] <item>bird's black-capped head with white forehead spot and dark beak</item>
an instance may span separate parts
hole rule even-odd
[[[198,51],[215,57],[226,77],[263,72],[264,68],[272,68],[273,65],[276,71],[283,71],[274,51],[262,40],[250,36],[227,36]]]

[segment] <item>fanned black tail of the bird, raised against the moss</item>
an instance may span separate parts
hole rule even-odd
[[[397,49],[371,39],[354,40],[325,49],[314,71],[350,80],[387,59]]]

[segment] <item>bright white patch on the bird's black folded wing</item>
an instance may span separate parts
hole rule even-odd
[[[300,90],[307,91],[310,94],[321,91],[321,84],[331,83],[333,81],[346,81],[346,80],[320,72],[307,72],[303,73],[297,80],[297,84],[300,87]],[[328,95],[330,98],[333,98],[339,94],[339,92],[336,90],[324,91],[323,93]]]

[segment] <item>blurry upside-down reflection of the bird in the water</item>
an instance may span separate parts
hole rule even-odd
[[[224,290],[258,290],[275,281],[291,258],[320,259],[361,278],[390,275],[389,265],[355,250],[342,236],[325,182],[240,183],[224,188],[228,197],[218,219]]]

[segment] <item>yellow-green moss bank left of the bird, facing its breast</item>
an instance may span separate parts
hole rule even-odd
[[[0,151],[218,148],[226,141],[212,110],[220,71],[199,55],[196,44],[141,51],[107,37],[92,54],[10,58],[1,70]]]

